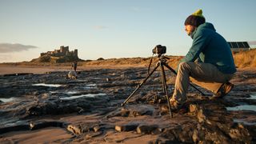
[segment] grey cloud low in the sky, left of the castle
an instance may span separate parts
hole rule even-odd
[[[22,45],[19,43],[0,43],[0,53],[18,52],[38,48],[37,46]]]

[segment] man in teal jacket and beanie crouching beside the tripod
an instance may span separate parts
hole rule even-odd
[[[236,72],[230,46],[213,24],[206,22],[202,10],[186,18],[185,30],[193,43],[178,65],[174,94],[170,98],[172,110],[179,110],[186,102],[190,81],[212,91],[214,98],[222,98],[234,86],[229,82]]]

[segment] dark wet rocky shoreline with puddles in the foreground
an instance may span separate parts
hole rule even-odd
[[[200,87],[207,96],[190,88],[186,108],[173,118],[160,71],[123,107],[146,78],[146,68],[83,70],[77,80],[66,79],[65,71],[2,76],[0,141],[254,143],[255,71],[238,70],[231,81],[234,90],[222,99],[212,99]],[[166,70],[169,93],[174,77]]]

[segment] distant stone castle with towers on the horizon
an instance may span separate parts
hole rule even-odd
[[[47,51],[46,53],[41,53],[41,57],[46,54],[54,57],[71,56],[74,58],[78,58],[78,50],[74,49],[74,51],[70,51],[69,46],[60,46],[59,50]]]

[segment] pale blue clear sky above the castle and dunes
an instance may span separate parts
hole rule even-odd
[[[0,62],[69,46],[84,60],[186,55],[185,19],[202,9],[226,41],[256,45],[255,0],[0,0]]]

